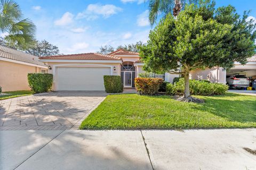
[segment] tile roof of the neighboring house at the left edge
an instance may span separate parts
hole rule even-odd
[[[37,56],[19,52],[18,50],[1,46],[1,45],[0,45],[0,57],[16,60],[20,62],[26,62],[30,64],[46,66],[43,62],[38,61]]]

